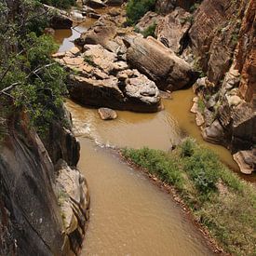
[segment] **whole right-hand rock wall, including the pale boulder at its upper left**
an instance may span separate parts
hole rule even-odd
[[[256,2],[166,0],[156,1],[156,10],[164,17],[157,18],[157,39],[205,76],[195,83],[193,108],[203,105],[196,115],[203,137],[228,147],[250,173],[256,168]]]

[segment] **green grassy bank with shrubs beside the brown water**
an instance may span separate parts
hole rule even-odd
[[[211,151],[188,139],[170,154],[142,148],[124,149],[122,155],[174,186],[225,251],[255,255],[255,190]]]

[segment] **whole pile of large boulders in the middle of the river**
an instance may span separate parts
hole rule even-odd
[[[158,42],[122,26],[126,13],[111,9],[75,40],[79,46],[53,57],[71,71],[71,98],[86,105],[135,112],[162,109],[159,88],[192,85],[191,66]]]

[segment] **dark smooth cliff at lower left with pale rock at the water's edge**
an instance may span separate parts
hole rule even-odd
[[[63,160],[54,167],[22,112],[1,115],[0,182],[0,255],[79,251],[88,219],[85,179]]]

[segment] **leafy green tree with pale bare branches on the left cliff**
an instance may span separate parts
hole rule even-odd
[[[65,72],[50,59],[57,46],[41,33],[47,24],[45,12],[34,13],[40,8],[40,3],[24,0],[0,6],[0,97],[25,110],[42,133],[58,118],[66,88]]]

